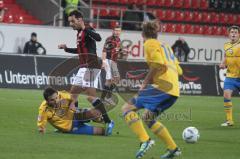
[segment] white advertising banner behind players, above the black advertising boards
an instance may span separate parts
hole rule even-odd
[[[27,26],[27,25],[0,25],[0,52],[22,53],[25,42],[30,39],[32,32],[37,33],[40,43],[46,48],[48,55],[69,55],[57,48],[58,44],[67,44],[68,47],[76,47],[76,31],[71,28],[58,28],[49,26]],[[101,51],[105,39],[111,35],[111,30],[97,30],[102,37],[101,42],[97,42],[97,52],[101,56]],[[159,39],[173,45],[182,37],[191,48],[188,61],[219,63],[223,56],[223,45],[227,38],[222,36],[202,36],[202,35],[180,35],[180,34],[160,34]],[[129,59],[142,60],[144,57],[143,40],[141,32],[123,31],[121,35],[123,46],[130,44],[128,48],[131,55]]]

